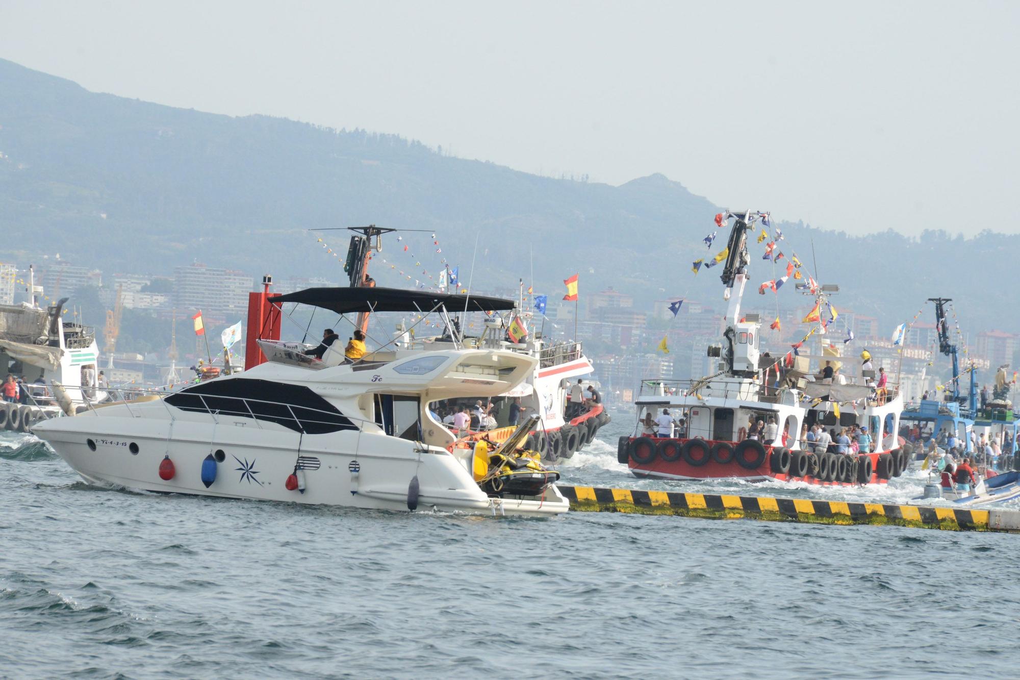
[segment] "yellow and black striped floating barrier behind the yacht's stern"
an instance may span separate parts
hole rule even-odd
[[[570,500],[570,509],[581,513],[639,513],[710,520],[749,519],[810,524],[895,525],[949,531],[1020,532],[1020,512],[1017,511],[639,491],[559,484],[557,488]]]

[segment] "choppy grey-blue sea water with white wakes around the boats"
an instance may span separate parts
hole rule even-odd
[[[885,501],[923,484],[639,481],[615,462],[622,431],[600,432],[564,481]],[[1017,677],[1018,541],[95,489],[8,433],[0,677]]]

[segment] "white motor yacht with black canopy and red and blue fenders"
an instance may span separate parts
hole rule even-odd
[[[374,287],[272,296],[266,286],[253,296],[249,333],[266,360],[174,393],[91,406],[35,433],[91,484],[391,511],[567,509],[557,476],[534,456],[520,463],[527,432],[494,443],[479,470],[477,447],[455,446],[457,437],[428,408],[439,399],[507,393],[534,373],[533,356],[455,342],[431,351],[393,345],[352,362],[339,347],[318,358],[300,343],[259,337],[260,329],[278,333],[286,302],[340,314],[447,317],[509,310],[512,300]],[[526,472],[512,474],[517,468]]]

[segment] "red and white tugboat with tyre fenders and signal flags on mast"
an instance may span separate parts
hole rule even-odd
[[[908,456],[894,448],[903,409],[895,385],[878,389],[873,372],[860,367],[843,367],[840,377],[839,349],[826,342],[815,355],[807,353],[807,343],[799,355],[790,352],[778,361],[761,355],[759,315],[742,314],[741,299],[750,262],[747,234],[767,213],[723,215],[723,226],[731,217],[735,224],[722,274],[726,329],[722,344],[708,348],[709,356],[719,359],[718,372],[694,381],[645,383],[634,399],[639,422],[633,435],[620,437],[618,460],[639,477],[683,480],[771,478],[854,485],[884,483],[900,475]],[[818,308],[825,308],[826,291],[812,292]],[[813,358],[820,365],[817,377],[810,373]],[[832,375],[825,366],[835,371],[834,377],[823,377]],[[652,393],[646,392],[648,386]],[[763,432],[756,431],[759,424]],[[872,451],[816,452],[811,442],[801,440],[805,425],[837,434],[855,425],[867,428]]]

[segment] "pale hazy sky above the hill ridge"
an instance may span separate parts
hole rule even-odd
[[[0,0],[0,57],[90,90],[851,233],[1020,232],[1018,30],[1020,2]]]

